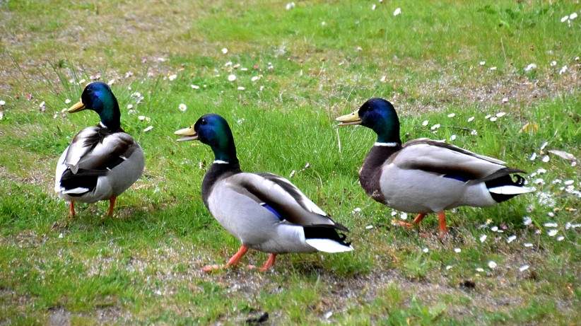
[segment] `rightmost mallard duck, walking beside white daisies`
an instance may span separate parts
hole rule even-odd
[[[336,118],[339,126],[361,124],[377,134],[359,172],[363,190],[377,202],[399,211],[418,213],[417,225],[437,213],[440,234],[447,233],[445,210],[457,206],[491,206],[517,194],[534,191],[524,178],[496,158],[479,155],[442,141],[414,139],[401,144],[399,119],[392,103],[372,98],[359,110]],[[515,175],[516,180],[512,180]]]

